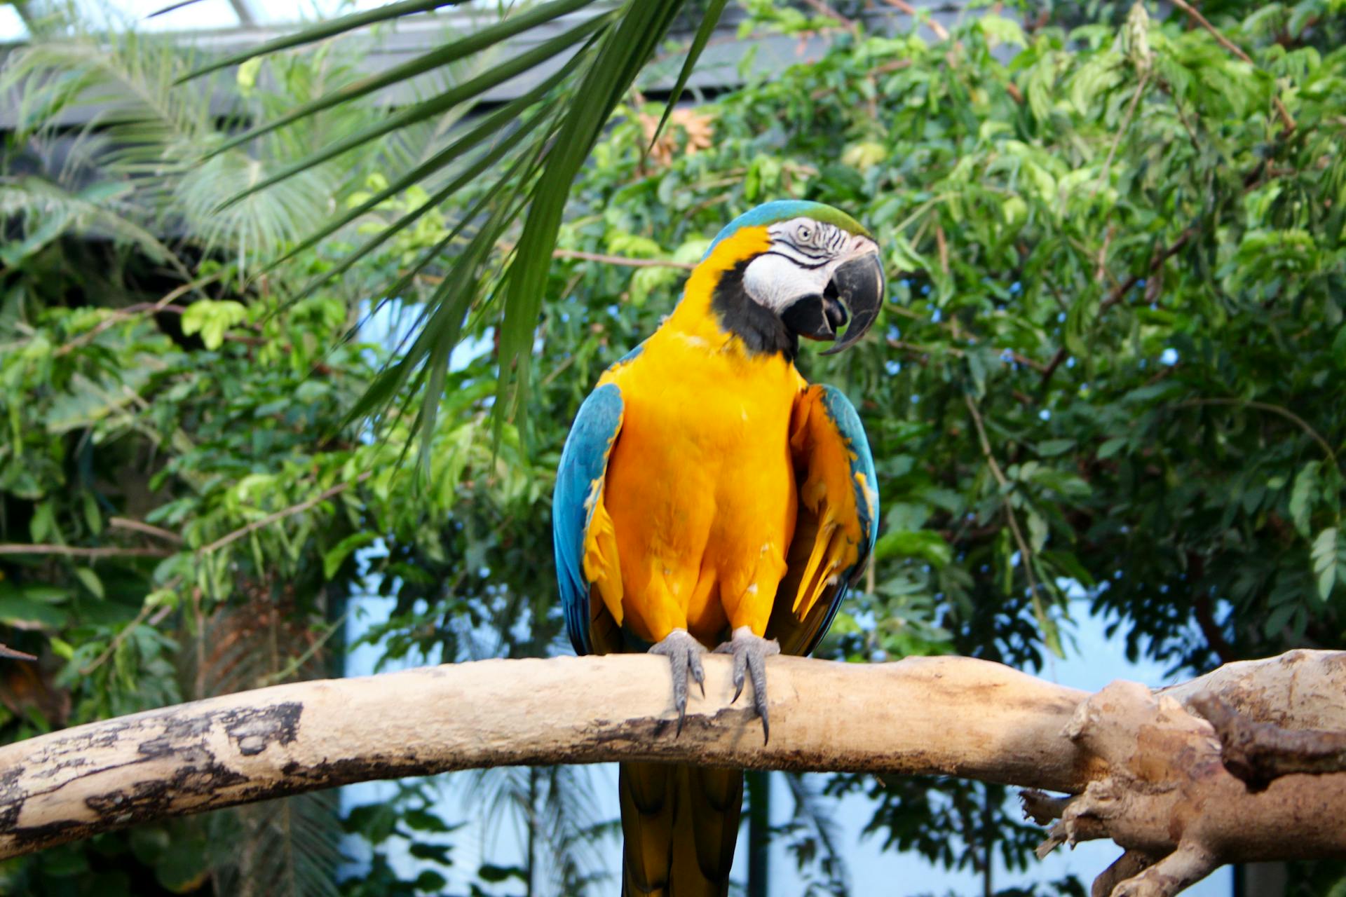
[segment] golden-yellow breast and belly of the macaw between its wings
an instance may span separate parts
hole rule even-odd
[[[603,379],[625,402],[603,491],[621,569],[608,609],[647,641],[674,628],[707,646],[743,625],[762,635],[794,531],[802,378],[779,355],[661,331]]]

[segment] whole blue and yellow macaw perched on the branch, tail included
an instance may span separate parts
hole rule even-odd
[[[795,370],[798,338],[859,340],[883,305],[879,247],[853,218],[774,202],[736,218],[673,313],[580,406],[552,529],[579,654],[673,667],[678,730],[701,654],[734,655],[770,737],[765,660],[808,654],[874,550],[874,459],[840,390]],[[704,685],[703,685],[704,690]],[[738,693],[735,694],[738,699]],[[627,897],[725,894],[743,773],[625,763]]]

